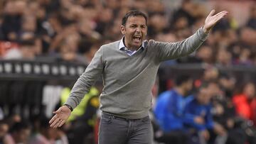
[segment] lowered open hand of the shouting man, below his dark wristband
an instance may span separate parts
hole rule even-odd
[[[68,120],[71,111],[68,106],[61,106],[57,111],[54,111],[53,113],[55,113],[55,115],[49,121],[50,127],[57,128],[63,126],[65,121]]]

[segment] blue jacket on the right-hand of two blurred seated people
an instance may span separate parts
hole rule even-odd
[[[213,128],[213,118],[210,113],[211,104],[199,104],[194,96],[188,96],[186,98],[186,107],[184,110],[184,123],[188,128],[196,128],[198,131]],[[196,116],[202,116],[204,118],[204,124],[198,124],[194,122]]]

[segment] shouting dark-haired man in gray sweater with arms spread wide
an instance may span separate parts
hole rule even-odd
[[[146,15],[141,11],[129,11],[122,18],[122,40],[102,45],[95,53],[75,83],[68,101],[53,112],[55,116],[50,126],[62,126],[92,84],[102,76],[99,143],[151,143],[153,136],[148,114],[151,88],[159,65],[199,48],[210,28],[228,13],[222,11],[213,16],[214,12],[210,12],[203,28],[190,38],[179,43],[161,43],[145,40]]]

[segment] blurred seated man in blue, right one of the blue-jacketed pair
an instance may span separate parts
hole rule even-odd
[[[186,107],[184,109],[184,123],[189,130],[198,132],[201,143],[207,143],[210,140],[210,131],[214,131],[218,137],[215,143],[225,143],[226,131],[218,123],[213,122],[213,116],[210,99],[218,92],[218,84],[215,82],[203,83],[198,89],[197,94],[186,98]],[[198,121],[198,118],[201,118]]]

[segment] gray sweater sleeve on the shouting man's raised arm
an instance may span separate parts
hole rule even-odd
[[[189,55],[197,50],[206,40],[207,34],[203,32],[203,28],[199,28],[196,33],[189,38],[177,43],[155,42],[154,47],[157,48],[160,62],[164,60],[176,59]]]

